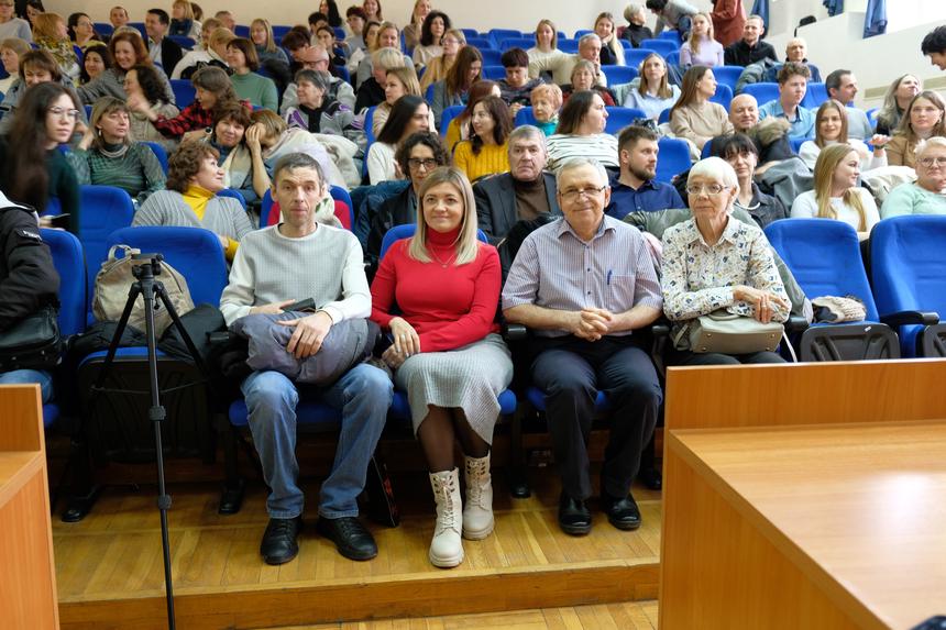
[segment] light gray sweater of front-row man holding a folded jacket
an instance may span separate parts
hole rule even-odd
[[[248,234],[233,258],[220,311],[231,325],[254,306],[306,298],[333,323],[371,314],[371,291],[354,234],[323,224],[302,239],[284,236],[278,225]]]

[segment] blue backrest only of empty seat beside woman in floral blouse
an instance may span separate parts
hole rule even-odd
[[[867,319],[878,321],[854,228],[832,219],[781,219],[766,226],[766,236],[809,299],[855,296]]]

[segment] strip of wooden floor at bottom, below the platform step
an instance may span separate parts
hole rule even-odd
[[[637,630],[657,628],[657,601],[450,615],[380,621],[342,621],[279,630]]]

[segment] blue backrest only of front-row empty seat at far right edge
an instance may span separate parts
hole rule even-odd
[[[891,217],[870,233],[870,272],[880,312],[936,311],[946,320],[946,217]]]

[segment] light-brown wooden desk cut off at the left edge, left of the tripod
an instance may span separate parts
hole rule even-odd
[[[59,627],[38,385],[0,385],[0,626]]]

